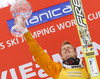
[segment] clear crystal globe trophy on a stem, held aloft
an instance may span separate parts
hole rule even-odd
[[[11,7],[10,12],[14,19],[16,19],[15,25],[11,28],[11,34],[15,37],[21,37],[24,34],[24,27],[22,21],[27,20],[32,14],[32,8],[29,2],[26,0],[17,0]]]

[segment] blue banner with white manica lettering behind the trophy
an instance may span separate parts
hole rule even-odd
[[[45,8],[36,12],[33,12],[31,17],[26,21],[26,27],[32,27],[38,24],[42,24],[63,16],[72,14],[72,8],[70,1]],[[14,25],[14,19],[7,21],[8,27],[11,30],[11,27]]]

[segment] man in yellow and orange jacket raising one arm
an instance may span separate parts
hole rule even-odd
[[[40,67],[54,79],[89,79],[86,68],[82,61],[77,58],[75,47],[68,41],[63,42],[60,55],[63,64],[52,61],[47,53],[39,46],[32,34],[27,30],[25,24],[24,37],[30,47],[31,54]]]

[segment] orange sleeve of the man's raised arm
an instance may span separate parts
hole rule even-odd
[[[57,79],[62,68],[60,63],[51,60],[49,55],[39,46],[30,32],[24,34],[26,42],[30,47],[31,54],[34,56],[37,64],[51,77]]]

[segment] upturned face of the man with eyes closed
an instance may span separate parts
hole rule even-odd
[[[61,48],[61,57],[63,60],[67,60],[68,58],[75,58],[77,56],[76,51],[73,46],[70,44],[66,44]]]

